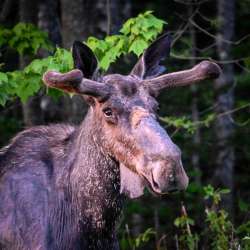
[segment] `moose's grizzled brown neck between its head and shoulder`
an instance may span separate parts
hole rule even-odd
[[[89,110],[76,131],[71,154],[70,184],[84,228],[112,230],[122,207],[119,164],[102,147],[101,128]],[[86,222],[88,225],[86,225]]]

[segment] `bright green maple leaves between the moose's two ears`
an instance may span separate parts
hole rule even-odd
[[[121,55],[134,53],[139,57],[149,44],[162,32],[165,21],[156,18],[152,11],[146,11],[128,19],[118,35],[107,36],[104,40],[89,37],[87,45],[99,59],[99,67],[107,70]]]

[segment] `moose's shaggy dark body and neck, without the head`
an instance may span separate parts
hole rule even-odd
[[[2,249],[118,249],[119,167],[93,122],[31,128],[0,153]]]

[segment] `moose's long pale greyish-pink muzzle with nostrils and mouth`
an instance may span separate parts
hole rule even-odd
[[[138,110],[137,110],[138,112]],[[133,132],[141,156],[136,170],[157,194],[185,190],[188,177],[181,162],[181,151],[156,119],[143,110],[134,114]]]

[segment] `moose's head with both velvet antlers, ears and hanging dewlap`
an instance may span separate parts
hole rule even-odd
[[[170,51],[162,35],[145,50],[129,75],[96,77],[97,59],[85,44],[73,45],[74,70],[49,71],[43,80],[52,88],[82,95],[96,121],[93,138],[102,152],[120,164],[121,191],[135,198],[147,186],[153,193],[184,190],[188,177],[181,151],[157,120],[157,95],[169,87],[190,85],[219,76],[220,68],[202,61],[192,69],[160,75]]]

